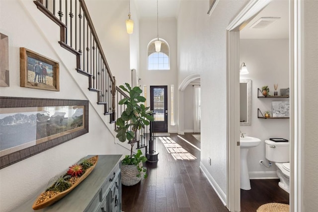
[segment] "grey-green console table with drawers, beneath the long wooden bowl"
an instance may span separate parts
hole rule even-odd
[[[91,156],[94,155],[87,157]],[[94,170],[73,191],[35,212],[121,212],[121,156],[98,155]],[[32,204],[38,195],[40,193],[13,211],[32,212]]]

